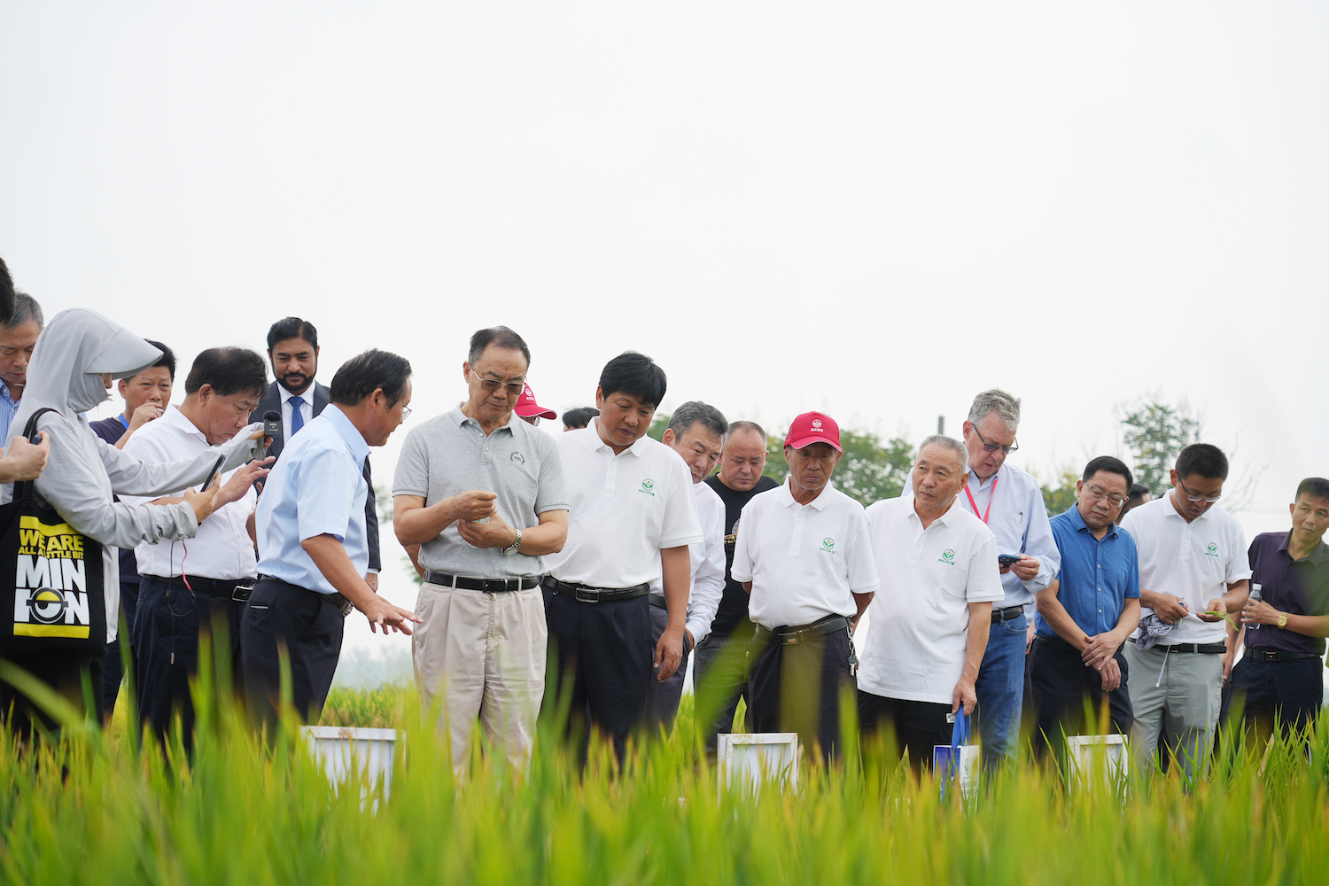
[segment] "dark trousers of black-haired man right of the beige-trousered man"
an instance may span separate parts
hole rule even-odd
[[[545,587],[549,668],[545,709],[567,709],[567,736],[585,748],[587,724],[614,743],[619,761],[627,736],[646,721],[653,679],[650,599],[581,603]]]

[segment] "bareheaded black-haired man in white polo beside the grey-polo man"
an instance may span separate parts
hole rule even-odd
[[[544,558],[545,704],[578,741],[587,720],[598,727],[619,761],[645,721],[647,680],[667,680],[683,659],[687,546],[704,538],[687,465],[646,436],[664,391],[650,357],[621,353],[601,372],[595,421],[557,436],[569,522],[563,550]],[[653,644],[647,591],[657,578],[668,622]]]

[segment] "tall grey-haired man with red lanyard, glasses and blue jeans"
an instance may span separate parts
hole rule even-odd
[[[1005,592],[993,607],[977,683],[978,728],[989,768],[1018,747],[1025,652],[1033,640],[1027,615],[1034,596],[1051,584],[1062,562],[1038,481],[1006,464],[1006,456],[1019,448],[1018,428],[1019,400],[998,389],[974,397],[964,424],[969,473],[960,505],[995,535]],[[906,484],[905,494],[910,491]]]

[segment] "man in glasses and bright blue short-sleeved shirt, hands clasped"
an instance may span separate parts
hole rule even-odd
[[[1084,735],[1084,699],[1111,712],[1112,735],[1131,731],[1128,669],[1122,644],[1140,623],[1140,570],[1135,539],[1114,521],[1131,490],[1131,469],[1111,456],[1086,465],[1076,503],[1053,518],[1061,553],[1057,579],[1038,592],[1038,634],[1030,681],[1038,725],[1034,752]]]

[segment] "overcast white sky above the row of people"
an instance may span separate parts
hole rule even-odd
[[[296,313],[424,417],[505,323],[558,410],[635,348],[772,430],[1003,387],[1043,476],[1187,397],[1268,462],[1249,531],[1329,473],[1322,3],[12,0],[0,40],[0,255],[185,367]]]

